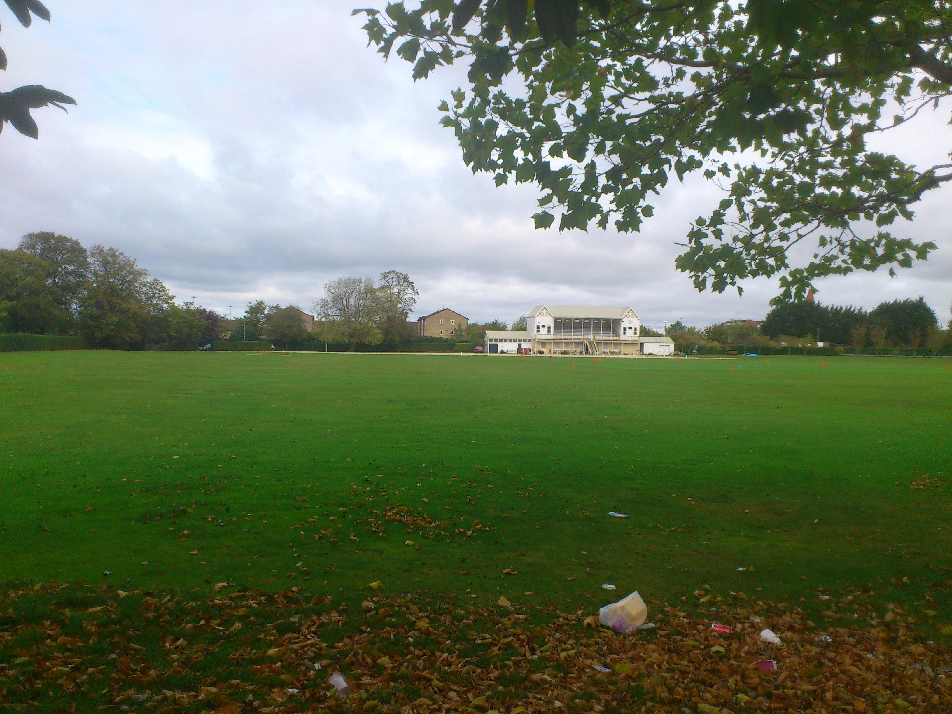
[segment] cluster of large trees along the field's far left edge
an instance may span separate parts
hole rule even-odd
[[[49,231],[0,249],[0,332],[82,335],[96,347],[208,340],[219,316],[190,302],[116,248]]]

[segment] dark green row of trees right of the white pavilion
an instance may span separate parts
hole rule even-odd
[[[772,307],[760,325],[730,320],[698,328],[678,321],[665,334],[686,351],[702,345],[808,347],[818,341],[877,350],[926,347],[938,352],[952,347],[952,321],[943,329],[922,297],[883,302],[869,311],[812,300],[783,302]]]

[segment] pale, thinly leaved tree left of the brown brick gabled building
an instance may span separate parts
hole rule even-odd
[[[337,278],[324,286],[325,297],[314,304],[314,311],[326,322],[328,342],[379,345],[380,295],[373,278]]]

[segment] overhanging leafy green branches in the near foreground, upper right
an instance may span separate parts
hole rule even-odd
[[[526,0],[401,0],[354,12],[414,79],[469,62],[443,124],[473,171],[539,186],[537,228],[555,210],[560,229],[637,231],[653,194],[703,171],[726,196],[694,221],[676,262],[700,290],[778,276],[789,300],[820,276],[892,272],[935,249],[888,227],[952,180],[949,165],[920,169],[867,138],[948,94],[949,3],[536,0],[528,10]],[[884,120],[891,106],[899,113]],[[811,242],[799,262],[790,248]]]

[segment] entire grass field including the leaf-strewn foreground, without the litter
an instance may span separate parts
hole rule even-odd
[[[948,711],[950,369],[0,355],[0,709]]]

